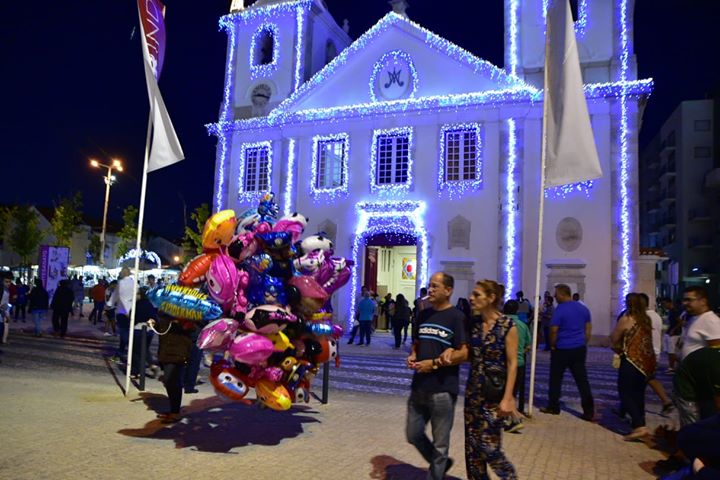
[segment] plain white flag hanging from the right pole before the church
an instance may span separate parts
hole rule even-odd
[[[568,0],[551,0],[545,54],[545,187],[602,176]]]

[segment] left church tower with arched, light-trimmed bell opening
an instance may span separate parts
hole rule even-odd
[[[235,0],[221,120],[267,115],[350,44],[323,0]]]

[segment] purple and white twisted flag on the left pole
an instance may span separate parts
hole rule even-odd
[[[145,80],[150,108],[153,112],[153,140],[148,159],[148,172],[167,167],[185,158],[157,83],[165,56],[164,9],[159,0],[138,0]]]

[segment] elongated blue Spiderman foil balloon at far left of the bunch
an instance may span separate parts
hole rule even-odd
[[[147,293],[147,298],[160,312],[181,320],[209,321],[222,316],[220,305],[190,287],[155,287]]]

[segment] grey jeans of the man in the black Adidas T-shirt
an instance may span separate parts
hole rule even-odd
[[[408,442],[430,464],[428,480],[441,480],[445,475],[456,401],[457,396],[448,392],[410,393],[405,433]],[[428,422],[432,429],[432,442],[425,434]]]

